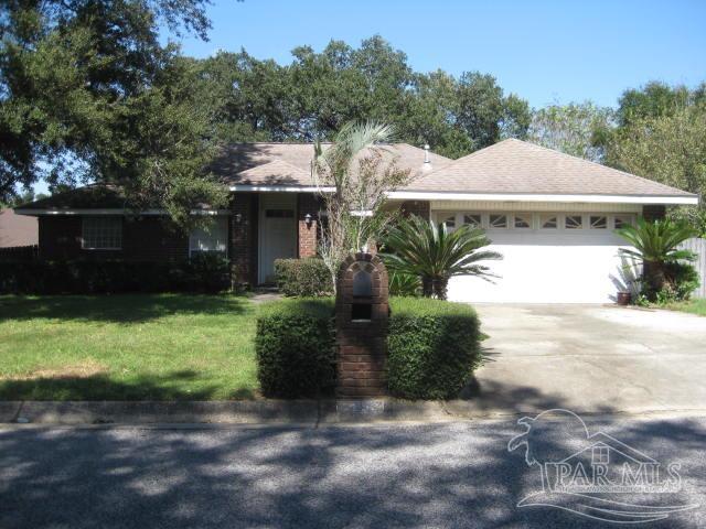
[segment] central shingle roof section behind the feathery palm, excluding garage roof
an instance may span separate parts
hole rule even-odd
[[[322,143],[323,149],[331,143]],[[409,170],[413,177],[443,168],[452,160],[429,152],[425,165],[425,151],[408,143],[388,145],[399,169]],[[313,185],[311,179],[312,143],[235,143],[223,150],[211,170],[226,183],[238,186]],[[280,163],[275,163],[280,162]],[[426,168],[426,169],[425,169]],[[298,171],[295,171],[297,169]]]

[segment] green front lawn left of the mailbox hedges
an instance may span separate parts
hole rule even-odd
[[[255,397],[255,306],[233,295],[0,296],[0,400]]]

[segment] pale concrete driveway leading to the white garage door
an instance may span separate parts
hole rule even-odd
[[[474,407],[706,410],[706,317],[610,305],[475,305],[488,361]]]

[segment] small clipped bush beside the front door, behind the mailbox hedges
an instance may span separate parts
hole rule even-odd
[[[277,259],[275,276],[279,291],[288,296],[320,298],[333,294],[331,273],[322,259]]]

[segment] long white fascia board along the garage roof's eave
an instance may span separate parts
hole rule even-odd
[[[698,196],[656,195],[541,195],[535,193],[443,193],[392,191],[387,197],[398,201],[498,201],[498,202],[584,202],[595,204],[680,204],[697,205]]]

